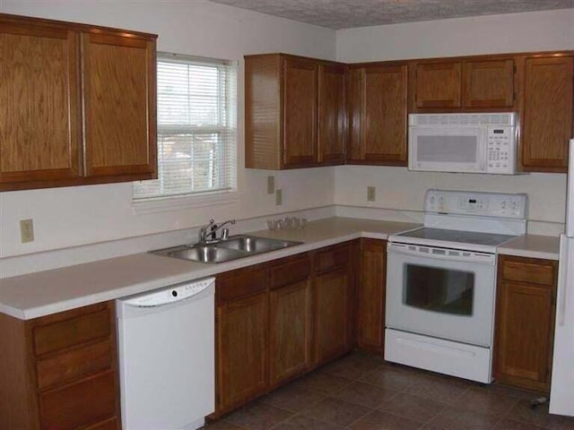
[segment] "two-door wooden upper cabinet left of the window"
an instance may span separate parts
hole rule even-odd
[[[154,177],[155,39],[0,14],[0,191]]]

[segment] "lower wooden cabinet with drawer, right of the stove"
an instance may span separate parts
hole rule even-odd
[[[496,306],[494,377],[550,391],[558,263],[502,255]]]

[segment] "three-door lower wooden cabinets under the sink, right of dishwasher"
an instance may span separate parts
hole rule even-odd
[[[335,245],[217,276],[211,417],[351,350],[353,246]]]

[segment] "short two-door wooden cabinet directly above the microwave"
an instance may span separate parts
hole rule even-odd
[[[410,69],[410,112],[509,111],[515,107],[511,56],[415,60]]]

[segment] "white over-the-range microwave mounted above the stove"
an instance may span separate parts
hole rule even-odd
[[[517,174],[516,116],[409,115],[409,170]]]

